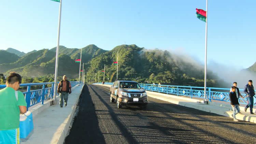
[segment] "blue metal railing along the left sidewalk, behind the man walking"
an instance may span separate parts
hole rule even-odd
[[[58,82],[59,83],[59,82]],[[71,87],[81,84],[81,82],[71,81]],[[31,86],[42,85],[41,89],[31,90]],[[51,85],[51,87],[46,87],[45,85]],[[5,88],[6,85],[0,85],[1,88]],[[20,84],[19,87],[27,87],[27,91],[23,92],[25,95],[25,100],[27,102],[27,110],[30,106],[38,103],[44,104],[44,100],[53,98],[54,96],[54,82],[51,83],[30,83],[30,84]]]

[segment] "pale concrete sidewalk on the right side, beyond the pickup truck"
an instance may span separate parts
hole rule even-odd
[[[101,85],[101,84],[99,84]],[[110,87],[111,85],[103,85]],[[218,103],[218,102],[209,102],[209,104],[204,104],[202,100],[185,98],[182,96],[167,95],[164,93],[146,91],[148,97],[155,99],[167,101],[174,104],[179,104],[186,107],[191,107],[205,112],[215,113],[227,117],[232,117],[233,112],[230,111],[230,104]],[[256,115],[250,114],[250,108],[247,109],[247,112],[244,111],[244,106],[240,106],[242,114],[237,114],[236,118],[238,120],[250,121],[256,123]],[[253,112],[256,112],[256,109],[253,109]]]

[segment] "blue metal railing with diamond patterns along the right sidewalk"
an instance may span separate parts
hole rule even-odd
[[[94,83],[94,84],[101,84],[101,83]],[[113,85],[113,83],[105,83],[105,84]],[[167,93],[167,95],[172,94],[176,96],[189,96],[191,99],[193,97],[204,98],[204,87],[153,85],[153,84],[139,84],[139,85],[143,87],[145,90]],[[209,101],[218,100],[218,101],[230,102],[229,91],[230,91],[229,88],[207,87],[206,98],[209,99]],[[243,89],[239,89],[239,91],[243,97],[245,96],[245,98],[239,99],[239,103],[247,104],[246,94],[243,92]],[[254,105],[256,105],[255,97],[254,97]]]

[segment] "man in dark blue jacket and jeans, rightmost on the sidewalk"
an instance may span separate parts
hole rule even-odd
[[[253,113],[253,97],[255,95],[255,91],[254,91],[253,81],[252,80],[249,80],[248,84],[245,85],[244,93],[246,93],[247,102],[248,102],[248,104],[244,107],[244,111],[246,112],[248,107],[250,107],[251,114],[254,114]]]

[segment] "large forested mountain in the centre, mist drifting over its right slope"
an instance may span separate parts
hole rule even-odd
[[[130,79],[144,83],[171,83],[173,85],[187,85],[193,83],[196,86],[203,85],[203,66],[194,66],[192,63],[184,61],[167,51],[155,49],[148,51],[136,45],[116,46],[109,52],[93,58],[88,66],[86,75],[87,82],[105,68],[105,81],[109,81],[113,72],[116,78],[118,51],[118,79]],[[177,62],[178,61],[178,62]],[[212,72],[208,72],[209,86],[216,84],[218,77]],[[100,81],[103,80],[103,73],[100,73]],[[97,81],[97,77],[96,77]]]

